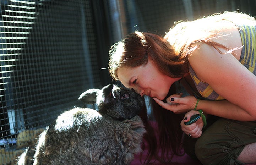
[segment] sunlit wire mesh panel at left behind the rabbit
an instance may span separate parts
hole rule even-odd
[[[0,164],[13,164],[21,143],[100,80],[90,1],[0,3]]]

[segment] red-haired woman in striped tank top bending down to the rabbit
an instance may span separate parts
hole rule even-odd
[[[255,163],[255,35],[254,18],[239,12],[178,22],[164,38],[135,32],[111,48],[110,75],[162,108],[186,113],[181,129],[198,138],[195,154],[203,164]],[[176,81],[191,95],[169,96]],[[220,119],[203,132],[204,115],[184,124],[202,111]]]

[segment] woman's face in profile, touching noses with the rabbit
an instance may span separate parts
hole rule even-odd
[[[164,75],[151,59],[148,60],[147,65],[118,68],[117,75],[125,87],[133,88],[141,96],[148,95],[159,100],[163,100],[171,85],[181,79]]]

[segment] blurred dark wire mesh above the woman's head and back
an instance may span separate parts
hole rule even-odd
[[[113,43],[135,30],[165,35],[174,21],[213,13],[240,10],[256,16],[255,4],[255,0],[113,0],[108,4]]]

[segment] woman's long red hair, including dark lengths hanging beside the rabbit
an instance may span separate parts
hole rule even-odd
[[[149,57],[161,72],[170,77],[182,77],[187,72],[186,61],[174,53],[172,46],[163,37],[152,33],[134,32],[127,35],[111,47],[109,55],[109,72],[115,80],[118,80],[116,71],[119,67],[145,65]],[[169,94],[174,93],[175,85],[171,86],[169,91]],[[181,148],[183,132],[180,126],[183,115],[163,109],[152,99],[151,105],[153,121],[148,118],[146,110],[140,115],[147,130],[144,138],[149,146],[144,163],[150,163],[153,158],[160,162],[170,162],[173,155],[184,154]],[[154,122],[157,123],[157,130],[153,129]]]

